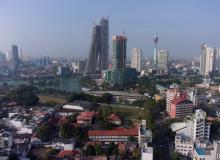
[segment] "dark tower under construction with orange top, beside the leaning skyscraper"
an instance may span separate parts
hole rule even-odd
[[[124,35],[113,36],[112,70],[124,70],[126,68],[126,43]]]

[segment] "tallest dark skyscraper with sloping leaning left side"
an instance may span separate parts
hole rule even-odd
[[[108,68],[109,23],[102,18],[98,25],[93,27],[92,40],[89,50],[86,74],[101,74]]]

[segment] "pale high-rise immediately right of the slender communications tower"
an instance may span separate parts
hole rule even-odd
[[[158,74],[167,75],[169,72],[168,68],[169,51],[162,49],[157,54],[157,69]]]

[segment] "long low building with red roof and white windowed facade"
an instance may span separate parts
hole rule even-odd
[[[129,136],[138,138],[138,128],[88,131],[89,139],[98,142],[126,142]]]

